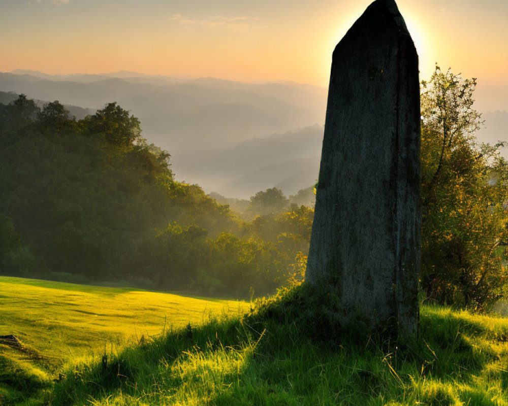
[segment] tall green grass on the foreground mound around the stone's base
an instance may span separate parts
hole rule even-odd
[[[327,310],[319,295],[285,290],[245,317],[222,312],[77,359],[38,401],[508,406],[508,320],[423,306],[418,339],[393,341],[340,330]]]

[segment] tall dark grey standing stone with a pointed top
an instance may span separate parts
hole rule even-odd
[[[344,325],[412,335],[420,268],[418,55],[394,0],[376,0],[333,52],[305,283]]]

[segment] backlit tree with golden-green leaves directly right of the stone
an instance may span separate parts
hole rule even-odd
[[[428,298],[484,309],[506,285],[505,163],[499,145],[478,145],[476,79],[436,65],[422,82],[421,285]],[[493,180],[496,181],[493,181]]]

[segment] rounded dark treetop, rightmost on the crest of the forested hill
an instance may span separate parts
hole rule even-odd
[[[131,146],[141,136],[140,121],[122,109],[116,101],[83,120],[91,133],[103,133],[111,144]]]

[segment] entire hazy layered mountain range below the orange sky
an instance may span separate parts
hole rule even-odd
[[[0,90],[81,106],[91,114],[117,101],[141,120],[143,135],[168,150],[178,180],[248,198],[279,187],[289,195],[317,179],[327,89],[293,82],[240,83],[116,72],[0,73]],[[508,140],[508,86],[477,89],[486,128],[480,141]],[[498,110],[498,111],[496,111]],[[85,115],[86,115],[85,114]]]

